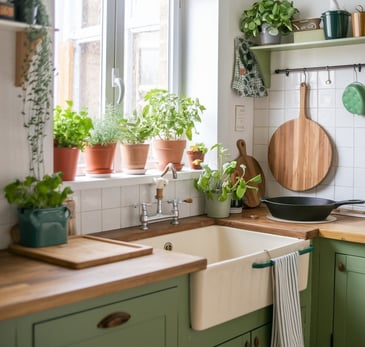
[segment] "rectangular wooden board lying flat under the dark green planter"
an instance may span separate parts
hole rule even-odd
[[[129,242],[83,235],[69,237],[68,242],[62,245],[30,248],[12,244],[9,246],[9,250],[48,263],[72,269],[83,269],[151,254],[153,248]]]

